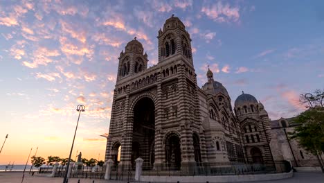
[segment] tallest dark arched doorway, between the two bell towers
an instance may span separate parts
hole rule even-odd
[[[154,135],[155,107],[152,99],[144,97],[137,101],[134,107],[132,166],[135,159],[141,157],[143,166],[153,167],[154,164]]]

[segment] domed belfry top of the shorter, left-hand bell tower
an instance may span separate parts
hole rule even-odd
[[[127,43],[125,52],[121,51],[118,58],[117,81],[147,69],[147,54],[146,52],[143,54],[143,51],[143,45],[136,40],[136,37]]]

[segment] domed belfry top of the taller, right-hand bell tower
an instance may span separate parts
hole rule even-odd
[[[183,60],[192,64],[191,39],[186,26],[178,17],[170,17],[165,21],[163,30],[159,30],[159,63],[175,55],[182,55]]]

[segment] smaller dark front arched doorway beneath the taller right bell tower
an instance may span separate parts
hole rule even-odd
[[[165,159],[169,167],[181,167],[180,139],[177,134],[170,134],[165,140]]]

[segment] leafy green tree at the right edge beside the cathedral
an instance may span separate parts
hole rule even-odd
[[[307,110],[294,119],[296,128],[289,133],[291,139],[296,139],[300,146],[305,148],[318,159],[324,173],[324,90],[316,89],[314,94],[301,94],[300,102],[306,104]]]

